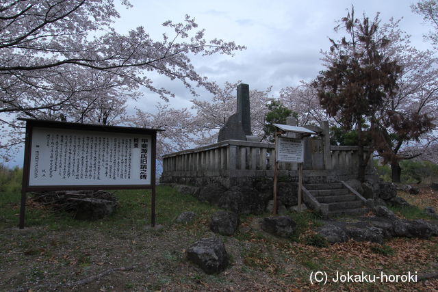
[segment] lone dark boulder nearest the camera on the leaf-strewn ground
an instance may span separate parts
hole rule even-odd
[[[216,237],[196,241],[188,248],[187,258],[207,274],[220,273],[227,268],[229,262],[224,243]]]

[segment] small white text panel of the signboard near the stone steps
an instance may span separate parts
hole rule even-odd
[[[276,161],[302,163],[304,161],[304,140],[277,137]]]

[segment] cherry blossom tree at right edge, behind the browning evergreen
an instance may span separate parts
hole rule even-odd
[[[400,182],[400,160],[418,157],[426,152],[425,147],[433,145],[431,142],[436,138],[432,130],[438,109],[437,60],[433,52],[412,47],[410,36],[400,30],[399,23],[393,19],[384,25],[377,23],[375,38],[383,45],[376,53],[394,60],[400,70],[393,75],[396,83],[391,92],[386,92],[372,105],[372,115],[361,120],[369,128],[366,135],[371,139],[371,146],[383,158],[383,163],[391,165],[394,182]],[[345,54],[354,56],[355,51],[345,51]],[[336,56],[332,51],[326,52],[324,62],[331,64]],[[337,114],[333,118],[345,125]]]

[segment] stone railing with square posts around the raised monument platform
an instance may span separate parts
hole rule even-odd
[[[331,146],[330,155],[306,155],[305,159],[324,159],[324,169],[305,168],[304,176],[348,180],[357,171],[357,146]],[[163,156],[162,183],[204,185],[220,181],[223,185],[242,184],[250,178],[274,176],[274,144],[226,140],[209,146],[183,150]],[[309,151],[311,152],[311,151]],[[306,163],[305,165],[312,165]],[[327,172],[327,170],[331,170]],[[279,175],[298,176],[296,163],[279,163]],[[316,179],[316,178],[315,178]]]

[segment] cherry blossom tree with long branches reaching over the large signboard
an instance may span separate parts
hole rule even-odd
[[[16,116],[116,122],[124,101],[138,98],[140,87],[164,100],[173,96],[155,85],[149,72],[179,80],[196,95],[194,86],[211,90],[214,83],[196,72],[191,56],[244,49],[234,42],[207,42],[190,16],[183,23],[163,23],[162,40],[153,40],[144,27],[118,34],[111,26],[118,16],[113,0],[2,1],[2,126],[19,127]]]

